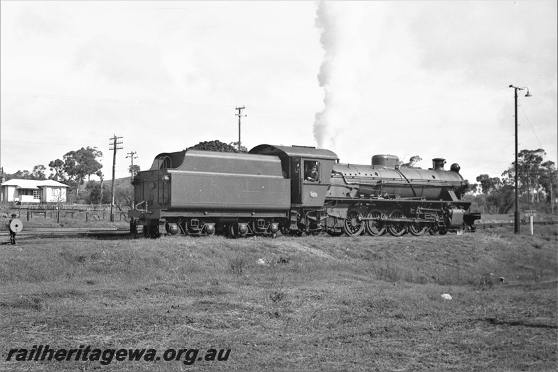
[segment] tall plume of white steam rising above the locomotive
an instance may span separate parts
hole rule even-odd
[[[360,116],[364,67],[370,60],[368,35],[361,23],[363,10],[369,8],[362,3],[366,1],[322,0],[316,11],[315,24],[322,29],[319,41],[325,51],[317,77],[325,95],[324,109],[315,114],[314,138],[318,147],[334,151]]]

